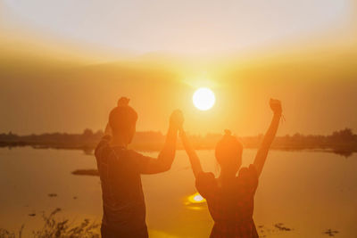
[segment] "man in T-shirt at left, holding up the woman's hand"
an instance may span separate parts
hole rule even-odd
[[[111,111],[105,135],[95,149],[103,193],[103,238],[148,237],[140,176],[170,169],[182,123],[182,113],[173,111],[166,142],[154,159],[127,148],[137,124],[137,112],[129,106],[129,99],[121,97]]]

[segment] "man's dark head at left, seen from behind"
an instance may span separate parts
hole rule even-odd
[[[129,106],[129,98],[121,97],[118,106],[109,114],[109,126],[112,128],[112,135],[130,144],[137,125],[137,111]]]

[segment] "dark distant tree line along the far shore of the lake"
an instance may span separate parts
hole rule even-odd
[[[0,146],[24,146],[35,148],[67,148],[91,151],[104,135],[103,131],[93,132],[85,129],[82,134],[45,133],[41,135],[15,135],[12,132],[0,134]],[[221,134],[189,135],[196,149],[213,149],[220,140]],[[239,137],[246,148],[257,148],[262,142],[263,135]],[[158,151],[162,148],[165,136],[161,132],[137,132],[131,147],[143,151]],[[182,146],[179,144],[179,148]],[[272,144],[273,149],[331,150],[345,156],[357,152],[357,135],[353,130],[345,128],[331,135],[295,135],[277,136]]]

